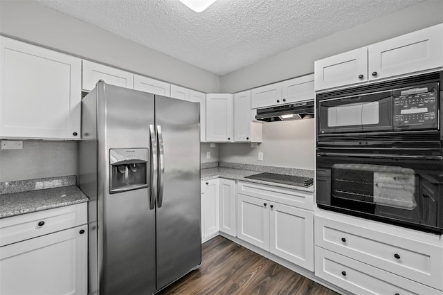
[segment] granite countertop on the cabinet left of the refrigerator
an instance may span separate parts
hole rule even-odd
[[[0,218],[88,202],[77,186],[0,195]]]

